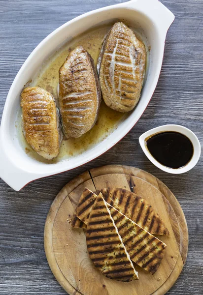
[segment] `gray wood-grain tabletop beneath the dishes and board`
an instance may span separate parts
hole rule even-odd
[[[124,0],[0,0],[0,118],[7,92],[35,46],[70,19]],[[39,179],[20,192],[0,179],[0,295],[66,294],[48,266],[43,231],[60,189],[92,167],[132,165],[160,178],[180,202],[189,229],[186,266],[169,295],[203,295],[203,157],[183,175],[153,166],[138,144],[144,131],[168,123],[193,130],[203,144],[203,1],[162,0],[175,14],[153,98],[131,132],[96,160]]]

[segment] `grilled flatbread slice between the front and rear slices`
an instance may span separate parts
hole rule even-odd
[[[167,245],[114,207],[109,204],[107,207],[131,260],[144,270],[154,274],[160,266]]]

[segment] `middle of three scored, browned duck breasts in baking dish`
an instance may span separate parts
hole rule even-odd
[[[94,60],[75,47],[59,70],[59,104],[66,137],[80,137],[96,123],[101,89]]]

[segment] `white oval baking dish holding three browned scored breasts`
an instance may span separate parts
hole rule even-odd
[[[32,79],[44,60],[68,38],[114,19],[124,19],[132,26],[141,27],[151,48],[146,81],[138,105],[105,140],[84,153],[54,164],[34,160],[25,153],[16,138],[15,118],[24,85]],[[85,13],[48,35],[25,61],[8,92],[0,125],[0,177],[18,191],[34,179],[87,163],[122,139],[140,118],[153,95],[161,71],[166,34],[173,20],[174,15],[158,0],[131,0]]]

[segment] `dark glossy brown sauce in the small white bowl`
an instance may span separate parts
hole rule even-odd
[[[146,139],[151,155],[162,165],[177,169],[185,166],[193,156],[190,139],[173,131],[161,132]]]

